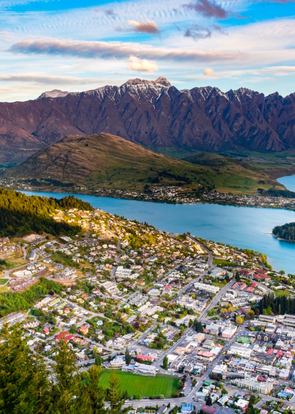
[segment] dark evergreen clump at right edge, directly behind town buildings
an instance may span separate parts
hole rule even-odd
[[[259,311],[263,315],[295,314],[295,299],[290,296],[280,296],[275,298],[273,293],[263,296],[258,305]]]

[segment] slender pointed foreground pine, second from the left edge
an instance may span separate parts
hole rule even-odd
[[[56,365],[53,367],[53,411],[60,414],[74,414],[78,412],[81,378],[74,363],[74,356],[68,349],[64,337],[59,339],[56,353]]]

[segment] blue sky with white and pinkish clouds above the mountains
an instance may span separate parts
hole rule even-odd
[[[295,92],[295,0],[0,0],[0,101],[129,79]]]

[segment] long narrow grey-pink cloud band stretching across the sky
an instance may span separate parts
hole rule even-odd
[[[200,62],[241,61],[246,54],[234,52],[155,48],[139,43],[101,42],[84,40],[38,39],[16,42],[8,49],[14,53],[56,54],[80,58],[129,58],[190,60]]]

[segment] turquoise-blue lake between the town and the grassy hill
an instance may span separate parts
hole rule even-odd
[[[295,188],[295,175],[293,183]],[[54,192],[24,192],[28,195],[56,198],[69,195]],[[267,255],[267,260],[274,270],[295,274],[295,243],[278,240],[271,235],[275,225],[295,222],[293,211],[218,204],[151,203],[82,194],[74,194],[74,196],[88,201],[93,207],[99,207],[130,220],[146,221],[170,233],[189,231],[192,235],[203,239],[259,251]]]

